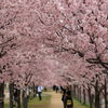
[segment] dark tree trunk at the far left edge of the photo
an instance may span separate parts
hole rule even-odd
[[[0,108],[4,108],[4,83],[0,83]]]

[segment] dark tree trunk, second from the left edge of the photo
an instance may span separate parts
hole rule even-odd
[[[9,85],[9,91],[10,91],[10,108],[13,108],[14,106],[14,83],[10,83]]]

